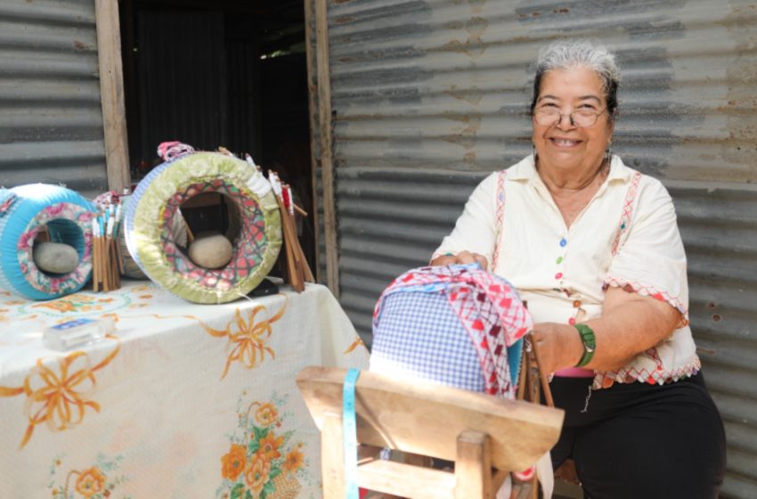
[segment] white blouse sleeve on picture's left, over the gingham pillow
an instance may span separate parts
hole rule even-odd
[[[430,265],[479,263],[488,267],[497,237],[495,226],[498,173],[487,176],[468,198],[452,233],[434,251]]]

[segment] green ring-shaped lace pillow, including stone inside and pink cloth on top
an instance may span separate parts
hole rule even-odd
[[[271,184],[225,150],[194,151],[171,142],[161,143],[158,152],[164,162],[126,204],[126,246],[134,262],[187,301],[225,303],[246,296],[281,249],[281,214]],[[188,207],[211,201],[225,210],[224,226],[193,229]]]

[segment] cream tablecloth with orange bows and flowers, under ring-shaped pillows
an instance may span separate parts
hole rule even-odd
[[[0,497],[321,497],[295,377],[368,365],[330,291],[194,305],[151,282],[35,302],[0,290]],[[110,317],[85,348],[45,326]]]

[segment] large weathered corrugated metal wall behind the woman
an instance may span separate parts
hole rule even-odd
[[[679,212],[728,434],[722,497],[757,497],[755,3],[335,0],[329,31],[341,303],[369,342],[380,291],[427,262],[486,173],[530,151],[539,47],[615,48],[615,152],[662,179]]]

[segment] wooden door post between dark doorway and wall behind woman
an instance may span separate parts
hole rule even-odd
[[[327,0],[315,1],[315,55],[318,68],[318,116],[321,126],[323,232],[326,242],[326,283],[339,298],[337,214],[334,200],[334,164],[331,143],[331,73]]]

